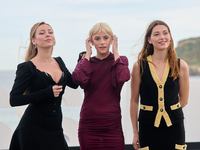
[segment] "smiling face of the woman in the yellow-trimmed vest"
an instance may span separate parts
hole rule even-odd
[[[167,50],[171,40],[171,34],[164,25],[157,25],[153,28],[151,36],[148,38],[154,50]]]

